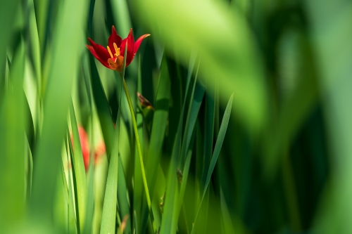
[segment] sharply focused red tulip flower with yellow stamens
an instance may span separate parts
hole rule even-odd
[[[136,55],[142,40],[148,37],[150,34],[144,34],[137,41],[134,41],[132,35],[132,29],[130,34],[125,39],[116,33],[115,27],[112,28],[111,35],[108,39],[108,46],[104,48],[103,46],[96,44],[92,39],[88,38],[89,43],[92,46],[87,45],[87,48],[92,53],[92,55],[99,60],[99,62],[108,67],[111,70],[122,71],[123,68],[123,56],[125,55],[125,47],[127,44],[127,58],[126,67],[130,65],[134,56]]]

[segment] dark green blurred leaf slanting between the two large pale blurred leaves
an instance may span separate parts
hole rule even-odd
[[[299,72],[299,77],[295,77],[294,90],[285,92],[288,94],[283,98],[282,107],[274,117],[275,124],[269,126],[263,138],[264,173],[269,179],[274,178],[273,176],[282,161],[282,155],[286,153],[285,150],[289,147],[289,143],[301,129],[304,120],[318,101],[318,81],[313,51],[307,39],[301,39],[299,42],[298,45],[291,48],[299,56],[297,60],[299,59],[300,67],[296,69]]]

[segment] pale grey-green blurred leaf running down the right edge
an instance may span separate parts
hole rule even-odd
[[[352,223],[351,1],[306,2],[327,117],[332,174],[315,219],[316,233],[349,233]]]

